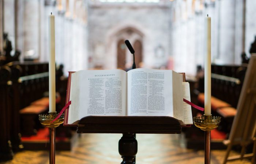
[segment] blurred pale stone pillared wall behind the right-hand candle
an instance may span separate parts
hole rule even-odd
[[[204,65],[207,14],[211,17],[212,63],[240,65],[242,52],[250,56],[248,51],[256,35],[255,7],[255,0],[173,1],[170,37],[174,69],[195,75],[196,65]]]

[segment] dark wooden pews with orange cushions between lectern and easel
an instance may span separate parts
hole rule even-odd
[[[221,124],[211,133],[211,149],[225,149],[222,140],[226,139],[230,133],[236,107],[244,82],[247,65],[211,65],[211,109],[213,116],[221,116]],[[194,94],[197,96],[197,105],[204,106],[204,75],[203,71],[198,71],[197,89]],[[193,94],[191,94],[193,95]],[[204,114],[196,109],[192,109],[193,116]],[[214,134],[218,138],[214,138]],[[203,149],[203,131],[192,126],[185,130],[187,148]],[[221,139],[222,138],[222,139]]]

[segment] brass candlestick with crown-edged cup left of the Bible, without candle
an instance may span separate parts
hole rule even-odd
[[[49,114],[39,114],[39,121],[50,130],[50,164],[55,164],[55,128],[64,122],[64,114],[61,114],[60,118],[53,121],[58,116],[57,112],[48,113]],[[53,122],[51,123],[51,121]]]

